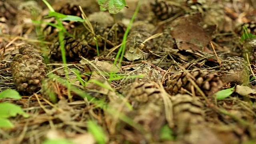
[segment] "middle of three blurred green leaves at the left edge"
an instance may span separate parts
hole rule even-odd
[[[29,117],[20,106],[8,102],[0,103],[0,118],[9,118],[11,116],[16,116],[17,114],[20,114],[25,118]]]

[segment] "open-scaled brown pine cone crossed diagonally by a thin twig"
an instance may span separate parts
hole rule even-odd
[[[186,90],[194,92],[197,96],[201,96],[200,92],[194,88],[194,85],[189,81],[193,80],[196,85],[206,94],[206,96],[210,96],[217,92],[221,86],[222,81],[218,77],[217,74],[210,74],[208,70],[200,70],[195,68],[193,70],[187,71],[190,74],[186,74],[185,72],[177,72],[170,77],[170,80],[166,82],[166,91],[170,95],[175,94],[186,94]],[[190,77],[192,76],[192,78]]]

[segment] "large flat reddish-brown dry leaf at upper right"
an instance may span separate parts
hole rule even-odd
[[[171,23],[171,35],[179,50],[201,50],[212,40],[215,25],[203,27],[201,14],[181,16]]]

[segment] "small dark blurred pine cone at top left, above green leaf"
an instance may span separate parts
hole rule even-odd
[[[81,11],[77,5],[71,5],[69,3],[62,6],[59,13],[72,16],[81,16]]]

